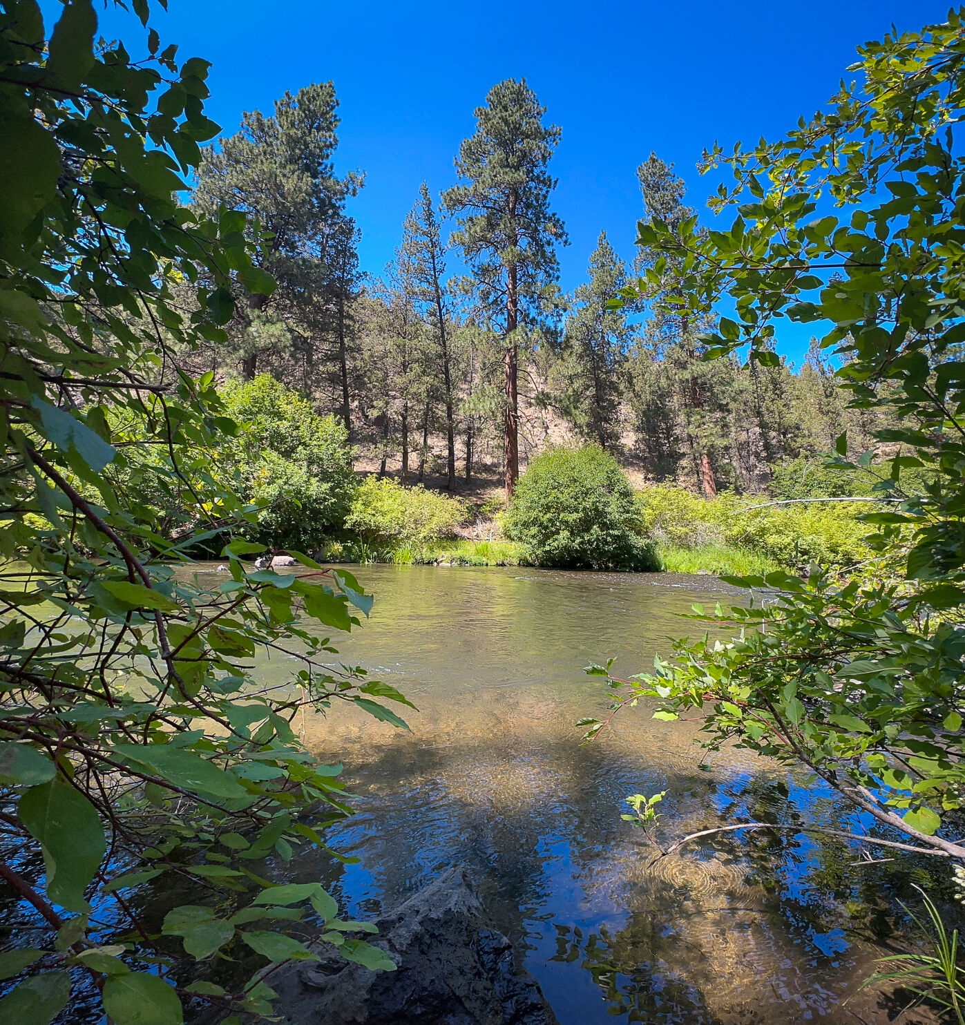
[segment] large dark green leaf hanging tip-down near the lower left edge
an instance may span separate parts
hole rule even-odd
[[[107,850],[93,805],[63,777],[31,787],[17,813],[40,844],[47,870],[47,896],[69,911],[87,911],[84,890]]]

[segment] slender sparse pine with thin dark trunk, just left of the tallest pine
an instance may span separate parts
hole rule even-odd
[[[455,487],[455,385],[452,375],[452,323],[444,278],[446,273],[446,244],[436,208],[423,182],[418,200],[405,220],[402,248],[410,260],[411,281],[416,308],[432,334],[438,354],[438,373],[441,376],[442,404],[445,409],[446,427],[446,487]],[[423,448],[427,444],[430,405],[425,410]],[[425,465],[425,451],[423,462]],[[421,479],[421,474],[419,475]]]

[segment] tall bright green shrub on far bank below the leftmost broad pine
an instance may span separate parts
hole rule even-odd
[[[253,539],[315,549],[338,530],[356,490],[345,426],[268,374],[230,382],[230,414],[244,424],[229,449],[245,497],[262,506]]]

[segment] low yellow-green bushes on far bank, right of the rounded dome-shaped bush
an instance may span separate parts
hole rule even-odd
[[[668,551],[707,551],[719,562],[726,546],[790,569],[811,562],[846,567],[872,554],[863,542],[869,527],[856,519],[865,506],[857,502],[749,508],[762,502],[732,494],[705,499],[664,486],[644,489],[639,500],[646,531]]]

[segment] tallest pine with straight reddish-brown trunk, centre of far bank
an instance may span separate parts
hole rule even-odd
[[[556,180],[550,158],[560,139],[545,125],[546,108],[526,80],[506,79],[476,108],[476,132],[455,161],[468,184],[448,190],[443,203],[459,225],[452,241],[473,268],[476,295],[504,342],[506,491],[519,478],[519,336],[536,322],[553,292],[555,246],[566,243],[562,220],[550,210]]]

